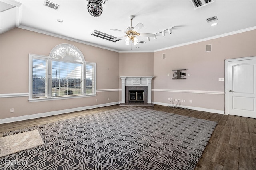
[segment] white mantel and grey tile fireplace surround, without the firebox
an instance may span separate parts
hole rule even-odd
[[[131,76],[121,76],[122,80],[122,100],[120,106],[131,106],[131,105],[153,105],[151,103],[152,94],[152,78],[153,77],[131,77]],[[129,103],[128,101],[128,91],[129,90],[144,90],[144,103]]]

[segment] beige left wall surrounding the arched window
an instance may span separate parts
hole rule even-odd
[[[97,90],[119,88],[117,52],[15,28],[0,35],[0,94],[28,93],[28,54],[48,56],[52,48],[62,43],[76,46],[86,61],[97,63]],[[28,97],[0,98],[0,119],[111,102],[119,102],[119,91],[44,102],[29,102]],[[10,113],[10,108],[14,108],[14,113]]]

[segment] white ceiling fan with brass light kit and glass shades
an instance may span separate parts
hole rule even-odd
[[[119,32],[123,32],[123,33],[126,33],[126,35],[122,36],[122,37],[119,37],[119,38],[116,38],[114,40],[117,40],[117,39],[122,39],[124,37],[127,37],[125,39],[125,44],[126,45],[129,45],[130,44],[130,41],[132,41],[134,43],[134,45],[138,44],[138,39],[136,38],[136,36],[142,36],[142,37],[148,37],[148,41],[149,41],[149,37],[154,37],[154,39],[156,39],[156,34],[151,34],[151,33],[138,33],[138,31],[144,27],[144,25],[142,23],[138,23],[135,27],[132,27],[132,20],[134,19],[135,16],[129,16],[130,20],[131,20],[131,26],[128,27],[126,29],[126,31],[122,31],[122,30],[119,30],[119,29],[110,29],[110,30],[113,30],[113,31],[119,31]],[[136,36],[135,36],[136,35]]]

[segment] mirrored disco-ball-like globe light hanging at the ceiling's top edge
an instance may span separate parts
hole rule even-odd
[[[107,0],[87,0],[87,10],[91,16],[98,17],[102,14],[102,3],[105,4]]]

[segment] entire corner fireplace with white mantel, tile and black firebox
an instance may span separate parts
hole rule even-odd
[[[151,103],[151,81],[153,77],[120,77],[122,79],[122,101],[120,106],[153,105]]]

